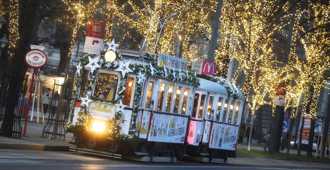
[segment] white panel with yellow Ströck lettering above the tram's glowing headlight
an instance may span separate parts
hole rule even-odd
[[[116,106],[90,102],[88,112],[94,119],[110,120],[115,117]]]

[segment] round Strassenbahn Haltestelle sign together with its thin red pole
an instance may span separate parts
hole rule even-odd
[[[31,87],[30,87],[30,94],[29,94],[29,101],[27,104],[27,111],[26,111],[26,117],[25,117],[25,125],[24,125],[24,131],[23,131],[23,136],[25,136],[26,132],[26,125],[27,125],[27,119],[29,116],[29,111],[30,111],[30,103],[31,103],[31,94],[32,94],[32,87],[33,87],[33,81],[34,81],[34,70],[38,69],[42,66],[44,66],[47,62],[47,55],[39,50],[39,49],[32,49],[29,50],[25,53],[25,63],[31,67],[31,69],[27,69],[27,71],[31,71],[32,73],[32,80],[31,80]],[[36,72],[36,76],[39,76],[39,73]]]

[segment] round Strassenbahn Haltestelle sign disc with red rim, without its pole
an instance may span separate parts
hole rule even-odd
[[[31,68],[40,68],[47,62],[47,56],[45,52],[32,49],[25,53],[25,63]]]

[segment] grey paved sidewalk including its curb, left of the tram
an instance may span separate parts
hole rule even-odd
[[[21,120],[22,129],[24,129],[25,119]],[[69,144],[72,141],[73,133],[66,133],[65,140],[56,140],[43,138],[42,133],[45,124],[28,121],[25,136],[18,138],[9,138],[0,136],[0,149],[23,149],[23,150],[38,150],[38,151],[69,151],[69,147],[75,146]],[[0,122],[1,126],[2,122]],[[52,131],[52,128],[51,128]],[[63,138],[62,138],[63,139]]]

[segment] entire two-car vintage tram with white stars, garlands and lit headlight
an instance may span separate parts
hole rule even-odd
[[[148,162],[235,157],[243,94],[185,69],[186,61],[163,53],[86,54],[75,74],[71,143]]]

